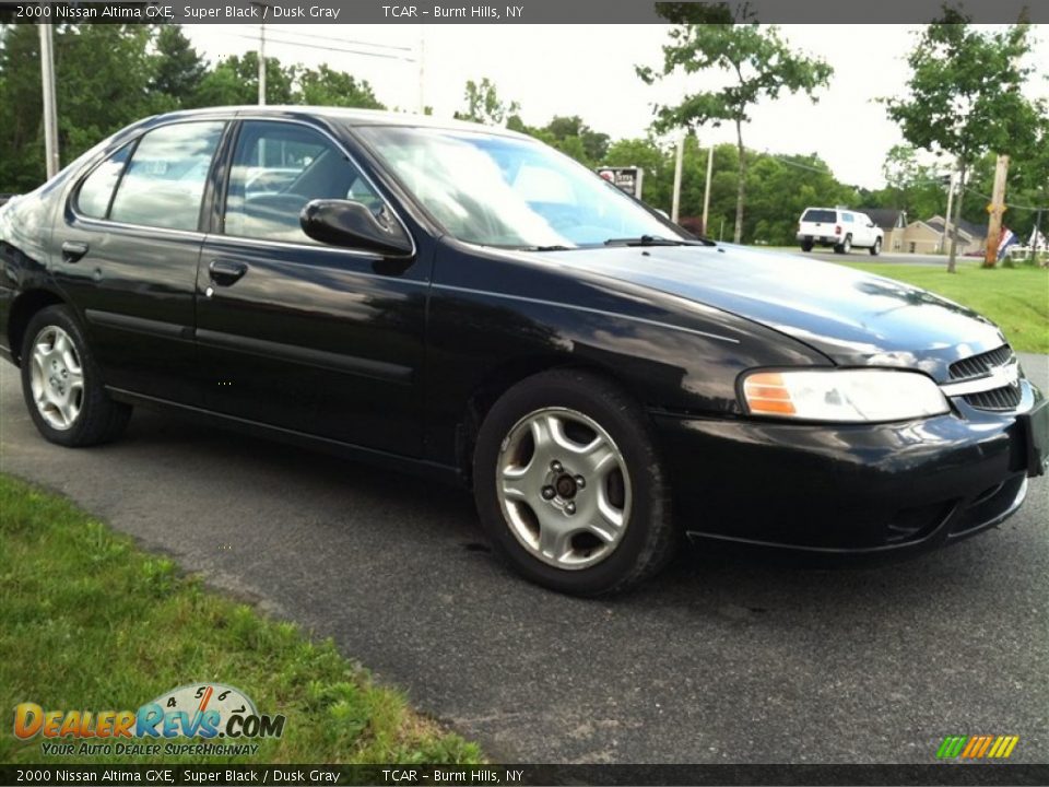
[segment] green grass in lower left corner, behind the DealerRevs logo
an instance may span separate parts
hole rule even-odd
[[[0,611],[0,763],[237,762],[45,756],[39,736],[20,741],[12,733],[22,702],[133,712],[204,681],[237,686],[260,714],[286,716],[283,737],[260,739],[258,753],[240,762],[481,762],[475,744],[375,684],[331,641],[310,642],[293,624],[210,591],[64,498],[2,474]]]

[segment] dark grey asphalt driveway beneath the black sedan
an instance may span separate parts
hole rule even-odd
[[[1047,383],[1045,356],[1026,365]],[[148,412],[61,449],[0,366],[3,470],[333,636],[496,759],[930,762],[982,732],[1049,762],[1045,480],[1007,525],[909,563],[707,554],[584,601],[509,575],[459,492]]]

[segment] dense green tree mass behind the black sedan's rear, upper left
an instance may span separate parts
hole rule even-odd
[[[69,162],[149,115],[195,106],[255,104],[254,51],[210,67],[177,25],[55,26],[59,154]],[[267,99],[381,108],[372,86],[327,64],[267,59]],[[0,25],[0,191],[44,181],[39,36],[35,25]]]

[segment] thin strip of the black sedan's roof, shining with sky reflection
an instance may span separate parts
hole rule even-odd
[[[157,115],[151,118],[153,121],[164,121],[176,118],[191,118],[195,116],[214,117],[216,115],[225,116],[246,116],[287,118],[322,118],[327,120],[338,120],[347,126],[405,126],[413,128],[433,128],[447,129],[456,131],[474,131],[483,133],[494,133],[506,137],[516,137],[519,139],[532,139],[526,134],[511,131],[497,126],[484,126],[468,120],[455,120],[448,118],[437,118],[432,115],[419,115],[415,113],[390,111],[388,109],[358,109],[351,107],[332,106],[313,106],[305,104],[267,104],[264,106],[245,104],[235,106],[202,107],[200,109],[184,109],[180,111]]]

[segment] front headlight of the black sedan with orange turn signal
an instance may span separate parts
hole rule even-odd
[[[743,378],[754,415],[805,421],[907,421],[950,411],[940,387],[918,372],[804,369],[754,372]]]

